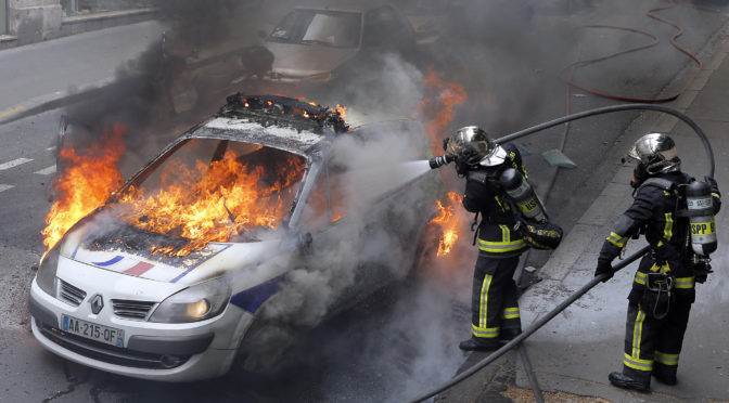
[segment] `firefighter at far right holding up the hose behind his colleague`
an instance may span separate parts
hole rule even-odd
[[[696,182],[681,172],[676,144],[666,134],[641,136],[623,160],[626,159],[635,164],[630,181],[634,203],[603,243],[594,275],[606,274],[604,281],[612,277],[611,262],[628,238],[644,234],[650,251],[640,261],[628,296],[623,370],[613,372],[608,378],[616,387],[649,392],[651,375],[665,385],[677,382],[694,285],[703,283],[711,272],[708,257],[702,255],[716,249],[713,217],[705,218],[708,236],[701,237],[711,242],[713,233],[713,246],[694,239],[696,231],[692,234],[690,226],[694,225],[694,217],[687,217],[690,214],[685,208],[686,188],[705,183],[706,196],[700,204],[709,206],[711,216],[719,210],[720,195],[713,178]]]

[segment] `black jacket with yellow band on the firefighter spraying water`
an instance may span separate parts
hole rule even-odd
[[[516,220],[509,197],[499,183],[501,171],[508,167],[517,169],[526,179],[519,150],[511,143],[502,144],[508,156],[496,167],[478,167],[466,173],[463,207],[481,214],[478,225],[479,256],[510,258],[528,248],[522,236],[514,231]]]

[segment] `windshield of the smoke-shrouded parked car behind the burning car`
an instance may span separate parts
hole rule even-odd
[[[360,13],[294,10],[273,28],[268,39],[277,42],[356,48],[359,46],[360,26]]]

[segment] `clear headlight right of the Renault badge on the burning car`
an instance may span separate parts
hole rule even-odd
[[[230,285],[218,277],[186,288],[164,301],[154,310],[151,322],[188,323],[216,316],[230,300]]]

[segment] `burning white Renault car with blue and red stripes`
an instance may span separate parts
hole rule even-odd
[[[236,356],[255,370],[269,360],[260,354],[285,351],[267,344],[271,327],[316,325],[402,278],[440,182],[427,168],[395,169],[393,141],[369,160],[364,147],[402,139],[400,158],[424,159],[423,129],[351,110],[345,121],[343,112],[229,96],[91,213],[48,232],[56,239],[29,298],[36,339],[115,374],[210,378]],[[387,183],[372,181],[379,174]],[[311,277],[325,290],[307,297]]]

